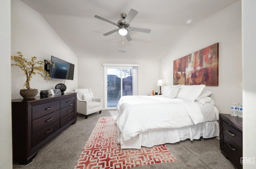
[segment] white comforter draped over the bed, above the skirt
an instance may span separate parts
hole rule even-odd
[[[123,96],[117,105],[116,118],[120,141],[128,141],[145,131],[179,128],[218,119],[217,115],[204,117],[199,104],[158,95]]]

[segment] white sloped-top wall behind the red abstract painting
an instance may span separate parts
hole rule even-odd
[[[190,28],[160,60],[160,74],[173,84],[173,61],[207,46],[219,43],[219,86],[207,86],[220,113],[230,113],[232,103],[242,103],[241,1]]]

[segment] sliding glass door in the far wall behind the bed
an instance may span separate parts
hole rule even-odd
[[[137,69],[124,66],[105,67],[105,108],[113,109],[124,95],[137,94]],[[135,76],[137,77],[137,75]],[[134,91],[135,88],[135,91]]]

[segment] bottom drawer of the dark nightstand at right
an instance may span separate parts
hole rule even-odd
[[[242,147],[238,146],[229,137],[224,135],[224,145],[222,149],[226,154],[228,154],[230,161],[232,161],[238,169],[242,169],[242,164],[240,163],[240,158],[242,157]]]

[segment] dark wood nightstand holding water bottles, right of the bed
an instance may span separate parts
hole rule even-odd
[[[220,150],[237,169],[242,169],[242,118],[220,114]]]

